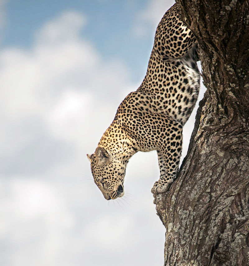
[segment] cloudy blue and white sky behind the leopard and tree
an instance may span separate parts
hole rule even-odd
[[[156,152],[130,159],[114,201],[86,154],[141,84],[173,3],[0,0],[0,265],[163,265]]]

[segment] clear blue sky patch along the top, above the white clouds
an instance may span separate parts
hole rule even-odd
[[[164,2],[166,6],[167,1]],[[31,48],[36,32],[46,21],[66,10],[77,11],[87,21],[80,36],[91,41],[103,59],[112,57],[122,60],[133,70],[132,78],[136,80],[144,73],[153,46],[153,34],[149,33],[155,31],[156,24],[154,21],[146,21],[142,16],[139,21],[138,16],[148,4],[149,1],[141,0],[8,1],[5,4],[6,24],[2,47],[17,45],[25,49]],[[160,13],[163,14],[163,9]],[[146,31],[141,36],[136,36],[135,31],[139,29],[134,29],[134,25],[141,22],[147,27]]]

